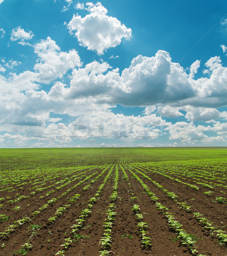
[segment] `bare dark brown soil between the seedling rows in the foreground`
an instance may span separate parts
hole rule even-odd
[[[67,195],[62,196],[63,192],[79,182],[79,180],[76,180],[75,184],[67,185],[62,189],[55,191],[49,197],[45,196],[48,191],[43,191],[34,196],[30,196],[29,198],[25,198],[23,201],[14,205],[6,204],[3,207],[1,214],[6,214],[11,218],[9,218],[8,221],[2,221],[0,223],[0,232],[3,232],[6,226],[8,227],[9,225],[14,224],[14,221],[17,221],[24,216],[28,216],[30,220],[20,227],[15,228],[12,233],[1,239],[0,244],[3,245],[4,243],[4,246],[1,246],[0,248],[0,256],[21,255],[19,250],[23,244],[28,241],[32,244],[32,248],[26,253],[28,256],[54,256],[60,250],[65,250],[65,256],[100,255],[100,239],[103,236],[103,222],[106,218],[106,210],[111,203],[109,197],[113,192],[115,168],[101,191],[98,200],[92,207],[92,212],[84,221],[83,227],[79,232],[80,236],[74,238],[75,241],[73,241],[67,249],[64,249],[61,245],[64,243],[64,239],[72,239],[72,225],[76,223],[76,220],[80,216],[80,212],[87,208],[89,199],[94,197],[99,186],[103,183],[104,177],[106,177],[107,172],[109,172],[109,169],[96,180],[95,183],[92,183],[87,190],[83,190],[83,187],[90,184],[91,179],[77,186],[76,189],[73,189]],[[124,178],[123,172],[118,168],[120,177],[117,189],[118,198],[115,201],[115,212],[117,215],[115,216],[112,225],[111,247],[107,248],[109,255],[192,255],[190,249],[178,241],[177,235],[174,230],[171,230],[165,215],[160,210],[156,209],[155,203],[151,201],[149,196],[145,193],[141,184],[132,176],[126,166],[124,166],[124,169],[129,180]],[[92,172],[96,172],[97,170],[98,169],[94,169]],[[101,172],[102,170],[98,171]],[[135,172],[135,170],[133,170],[133,172]],[[161,175],[147,173],[152,180],[160,183],[165,189],[178,195],[179,202],[187,201],[189,205],[193,205],[193,208],[191,208],[190,211],[186,211],[180,209],[175,201],[168,198],[168,196],[151,181],[138,173],[136,174],[149,187],[150,191],[155,193],[161,204],[168,207],[169,212],[172,212],[172,214],[175,215],[176,220],[183,225],[182,228],[186,230],[188,234],[191,234],[196,238],[197,242],[195,248],[199,253],[207,256],[227,256],[226,246],[221,246],[218,243],[218,239],[215,236],[212,236],[193,215],[193,212],[200,212],[204,217],[212,221],[214,225],[227,231],[226,204],[212,202],[212,197],[207,198],[204,195],[203,192],[207,190],[203,187],[200,187],[198,191],[195,191],[180,183],[168,180]],[[97,175],[94,175],[94,177]],[[45,186],[48,186],[49,184],[51,183],[47,183]],[[26,192],[24,195],[29,195],[29,188],[31,188],[30,184],[27,186],[23,185],[23,191]],[[80,194],[80,198],[76,202],[69,202],[68,198],[75,194]],[[51,198],[58,199],[55,203],[49,205],[33,218],[31,213],[38,210],[44,204],[47,204],[48,200]],[[48,219],[55,216],[56,210],[66,204],[71,204],[71,206],[69,206],[54,223],[50,223]],[[142,247],[141,236],[137,226],[138,220],[132,211],[133,204],[140,205],[141,214],[143,214],[144,217],[143,221],[147,222],[148,225],[146,230],[148,232],[147,236],[151,238],[151,247]],[[18,212],[11,210],[15,206],[21,207]],[[33,232],[31,227],[34,224],[40,225],[40,227]]]

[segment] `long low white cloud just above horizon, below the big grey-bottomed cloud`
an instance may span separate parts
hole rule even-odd
[[[163,127],[171,123],[165,122],[155,114],[151,116],[124,116],[110,112],[97,113],[95,116],[80,116],[69,125],[59,123],[59,136],[80,139],[96,138],[132,138],[155,139],[162,136]]]

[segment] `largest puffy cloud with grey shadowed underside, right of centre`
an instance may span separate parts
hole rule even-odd
[[[97,103],[146,106],[195,96],[187,74],[165,51],[153,57],[138,55],[120,75],[118,68],[96,61],[72,72],[71,86]],[[106,73],[107,72],[107,73]],[[105,73],[105,74],[103,74]],[[77,98],[79,94],[72,93]]]

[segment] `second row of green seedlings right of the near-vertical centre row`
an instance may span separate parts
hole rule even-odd
[[[176,217],[172,213],[167,212],[168,208],[163,206],[160,202],[158,202],[159,198],[157,196],[155,196],[155,193],[151,192],[149,187],[143,182],[143,180],[141,180],[138,177],[138,175],[136,175],[134,172],[132,172],[131,169],[129,169],[129,172],[141,184],[141,186],[143,187],[143,189],[145,190],[147,195],[149,195],[149,198],[151,198],[151,200],[153,202],[155,202],[156,208],[161,210],[162,213],[165,215],[165,217],[167,218],[168,225],[170,225],[170,228],[172,228],[172,230],[175,231],[175,233],[177,235],[177,239],[179,239],[181,244],[187,245],[188,248],[190,249],[191,253],[198,255],[198,256],[204,256],[203,254],[198,254],[198,251],[196,249],[193,249],[193,247],[195,247],[196,241],[193,240],[193,237],[190,234],[188,234],[186,232],[186,230],[181,228],[182,225],[178,221],[175,220]]]

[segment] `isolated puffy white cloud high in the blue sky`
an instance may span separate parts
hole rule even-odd
[[[83,18],[74,15],[68,24],[71,33],[76,31],[80,45],[103,54],[106,49],[121,44],[122,38],[131,38],[132,29],[126,28],[117,18],[106,15],[107,10],[101,3],[87,3],[86,6],[90,14]]]

